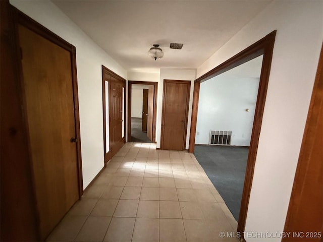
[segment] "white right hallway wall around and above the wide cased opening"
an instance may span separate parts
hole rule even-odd
[[[322,23],[322,1],[275,1],[197,70],[201,76],[277,29],[246,231],[276,233],[284,229],[323,40]],[[287,142],[277,142],[281,136]]]

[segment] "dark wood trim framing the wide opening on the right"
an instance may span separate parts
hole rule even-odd
[[[253,171],[256,161],[258,142],[260,136],[260,129],[262,123],[263,109],[266,99],[268,80],[270,76],[271,63],[274,51],[274,43],[276,37],[276,30],[266,35],[262,39],[258,40],[254,44],[250,45],[246,49],[242,50],[238,54],[234,55],[224,63],[220,64],[216,68],[213,68],[209,72],[205,73],[201,77],[194,81],[194,92],[193,92],[193,109],[192,109],[192,121],[191,121],[191,133],[190,133],[190,143],[189,152],[194,152],[195,147],[195,133],[197,124],[197,111],[198,111],[198,99],[199,99],[199,88],[200,83],[204,82],[212,77],[218,76],[226,71],[231,70],[243,63],[250,61],[251,59],[263,54],[262,68],[259,80],[257,104],[255,109],[255,116],[251,134],[251,142],[249,148],[249,155],[247,161],[246,175],[243,187],[243,194],[241,200],[240,215],[238,221],[237,231],[243,235],[247,217],[247,210],[250,198],[251,184],[253,178]]]

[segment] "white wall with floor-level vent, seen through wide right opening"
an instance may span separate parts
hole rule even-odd
[[[262,55],[201,83],[195,144],[208,144],[210,130],[225,130],[231,145],[250,145],[261,64]]]

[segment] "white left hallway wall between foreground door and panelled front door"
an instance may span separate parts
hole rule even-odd
[[[101,65],[124,78],[127,73],[52,2],[11,0],[10,3],[76,47],[83,187],[86,188],[104,165]]]

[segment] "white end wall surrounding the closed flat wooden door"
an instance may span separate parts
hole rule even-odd
[[[186,134],[186,149],[188,149],[189,138],[190,138],[191,117],[192,117],[194,80],[196,79],[196,70],[195,69],[160,69],[160,78],[158,83],[158,94],[157,94],[157,124],[156,124],[156,142],[157,142],[156,147],[157,148],[160,148],[160,135],[161,135],[160,127],[161,127],[161,113],[163,108],[164,79],[191,81],[187,134]]]

